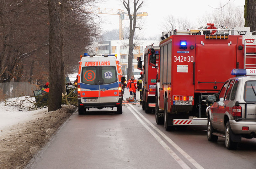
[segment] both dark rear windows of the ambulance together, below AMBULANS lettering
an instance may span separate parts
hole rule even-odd
[[[82,67],[81,82],[90,85],[111,84],[117,81],[115,66]]]

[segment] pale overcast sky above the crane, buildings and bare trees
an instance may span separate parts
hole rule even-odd
[[[219,8],[220,3],[225,5],[227,2],[234,6],[244,9],[245,0],[144,0],[144,5],[140,12],[148,12],[148,16],[144,18],[144,29],[142,30],[146,36],[161,35],[164,31],[161,28],[161,23],[164,22],[164,17],[173,15],[174,17],[187,18],[191,23],[196,23],[197,19],[208,12],[215,11]],[[101,4],[96,4],[101,9],[122,9],[125,8],[122,0],[105,0]],[[118,15],[100,15],[103,18],[101,24],[102,30],[119,29]],[[129,21],[124,21],[124,27],[127,27]]]

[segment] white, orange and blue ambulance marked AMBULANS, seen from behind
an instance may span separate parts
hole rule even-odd
[[[116,55],[117,56],[117,55]],[[122,71],[115,55],[88,55],[79,62],[78,113],[86,109],[117,107],[122,114]]]

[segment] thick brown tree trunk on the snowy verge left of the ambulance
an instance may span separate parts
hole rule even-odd
[[[48,111],[55,111],[62,105],[63,90],[63,42],[61,32],[60,3],[58,0],[48,0],[49,7],[49,106]]]

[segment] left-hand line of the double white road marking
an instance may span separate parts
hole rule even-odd
[[[133,107],[133,106],[132,106]],[[165,150],[176,160],[178,164],[184,169],[190,169],[188,165],[183,162],[183,160],[177,156],[175,152],[148,126],[142,119],[128,106],[128,109],[133,113],[133,115],[139,120],[139,122],[155,137],[155,139],[165,148]]]

